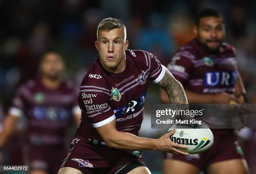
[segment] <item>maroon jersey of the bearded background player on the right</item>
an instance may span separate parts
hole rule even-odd
[[[198,94],[214,94],[235,92],[237,80],[237,63],[235,48],[225,42],[220,46],[218,54],[211,55],[197,39],[191,40],[181,47],[172,57],[167,69],[182,83],[184,89]],[[229,130],[214,130],[227,133]]]

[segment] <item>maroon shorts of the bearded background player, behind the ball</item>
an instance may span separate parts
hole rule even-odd
[[[164,154],[164,159],[187,162],[200,169],[205,169],[207,166],[215,162],[242,158],[243,152],[236,141],[236,136],[233,133],[223,135],[215,134],[212,147],[201,154],[190,154],[188,157],[170,153]]]

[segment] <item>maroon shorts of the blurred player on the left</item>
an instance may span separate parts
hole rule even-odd
[[[67,154],[67,147],[64,145],[32,145],[26,146],[28,152],[27,161],[29,169],[41,169],[56,174]]]

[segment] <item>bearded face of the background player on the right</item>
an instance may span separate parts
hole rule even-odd
[[[225,25],[220,17],[202,17],[195,33],[208,51],[217,52],[224,40]]]

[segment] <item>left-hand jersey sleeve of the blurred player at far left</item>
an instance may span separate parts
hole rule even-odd
[[[25,85],[18,88],[13,97],[12,105],[9,108],[9,114],[17,117],[23,114],[23,110],[26,107],[26,94],[29,95],[29,91]]]

